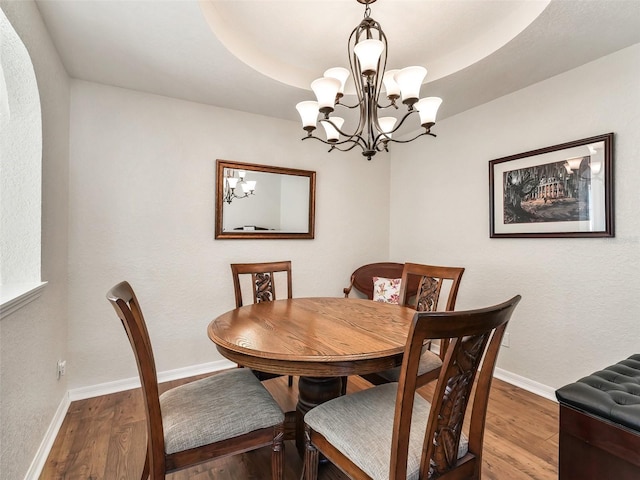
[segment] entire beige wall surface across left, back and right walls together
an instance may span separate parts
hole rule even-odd
[[[33,2],[0,6],[41,92],[49,282],[0,324],[3,478],[24,477],[67,389],[135,376],[104,298],[125,278],[143,302],[160,371],[219,358],[205,328],[233,306],[229,263],[285,258],[296,296],[338,296],[356,266],[389,257],[467,267],[460,308],[521,293],[499,367],[549,387],[637,351],[640,46],[446,119],[437,139],[397,146],[391,163],[367,162],[301,142],[297,123],[70,87]],[[488,238],[489,160],[609,131],[616,238]],[[316,239],[214,240],[216,158],[316,170]],[[60,357],[68,383],[55,379]]]

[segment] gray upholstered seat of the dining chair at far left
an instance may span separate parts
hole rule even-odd
[[[237,437],[284,421],[248,368],[187,383],[160,395],[166,453]]]

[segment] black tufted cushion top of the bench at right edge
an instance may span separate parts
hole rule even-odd
[[[581,378],[556,391],[578,410],[640,431],[640,355]]]

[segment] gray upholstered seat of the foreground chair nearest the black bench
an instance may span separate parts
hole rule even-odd
[[[305,423],[324,436],[374,480],[389,478],[391,435],[395,413],[397,383],[387,383],[338,397],[310,410]],[[418,478],[422,442],[431,404],[416,394],[411,419],[407,479]],[[469,445],[463,435],[458,458]]]

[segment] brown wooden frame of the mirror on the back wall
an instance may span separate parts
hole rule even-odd
[[[262,230],[255,231],[223,231],[223,206],[224,206],[224,171],[226,168],[245,170],[249,172],[276,173],[280,175],[294,175],[309,178],[309,226],[307,232],[273,232]],[[311,239],[315,236],[316,223],[316,172],[312,170],[298,170],[295,168],[274,167],[272,165],[258,165],[254,163],[233,162],[230,160],[216,160],[216,239]]]

